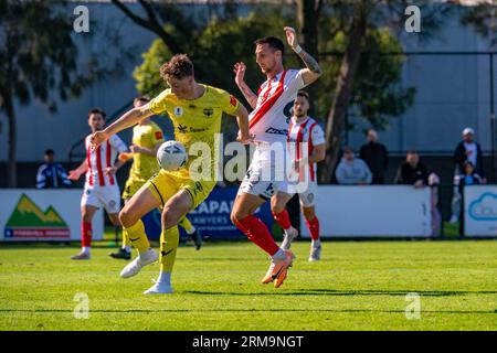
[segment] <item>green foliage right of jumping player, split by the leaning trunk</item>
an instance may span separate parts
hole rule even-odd
[[[324,25],[334,25],[332,18]],[[326,33],[325,29],[320,33]],[[324,35],[321,35],[324,36]],[[326,117],[331,105],[331,96],[337,83],[341,55],[347,45],[342,31],[327,41],[319,43],[320,52],[335,52],[320,58],[324,75],[319,79],[317,115]],[[388,127],[389,118],[403,114],[414,101],[415,88],[400,85],[403,55],[384,55],[381,53],[402,53],[400,42],[385,28],[370,28],[367,31],[363,54],[350,97],[349,117],[359,117],[378,129]],[[353,128],[349,125],[348,128]]]

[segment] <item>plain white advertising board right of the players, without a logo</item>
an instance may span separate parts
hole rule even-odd
[[[431,190],[406,185],[320,185],[316,214],[325,237],[429,237]],[[300,231],[309,237],[302,214]]]

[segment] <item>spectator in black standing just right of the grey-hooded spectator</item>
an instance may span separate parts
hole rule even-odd
[[[359,157],[368,164],[372,173],[372,184],[384,184],[384,173],[389,167],[389,152],[378,142],[378,132],[368,130],[368,142],[361,146]]]

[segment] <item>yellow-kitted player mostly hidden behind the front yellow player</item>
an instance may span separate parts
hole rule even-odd
[[[135,108],[141,107],[150,101],[147,97],[136,97],[133,101]],[[126,203],[133,195],[149,180],[154,174],[159,172],[157,164],[157,150],[163,142],[162,129],[150,117],[140,120],[133,128],[133,145],[129,147],[130,152],[119,154],[119,160],[128,161],[133,159],[129,170],[129,176],[126,181],[123,200]],[[197,249],[202,246],[200,233],[190,223],[187,217],[180,221],[180,225],[187,231],[187,234],[194,240]],[[118,252],[110,253],[110,257],[117,259],[131,258],[131,242],[129,240],[126,229],[123,229],[123,246]]]

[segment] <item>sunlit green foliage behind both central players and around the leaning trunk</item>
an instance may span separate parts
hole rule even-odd
[[[245,81],[256,90],[265,79],[255,63],[253,42],[265,35],[276,35],[285,41],[283,28],[295,25],[292,17],[282,15],[278,9],[265,12],[254,11],[247,17],[213,18],[203,29],[198,31],[186,45],[188,53],[197,66],[201,65],[199,82],[222,87],[244,101],[234,84],[232,67],[235,62],[247,65]],[[332,15],[320,21],[319,52],[343,52],[346,34],[338,31],[329,35],[330,28],[337,28],[342,21]],[[399,41],[387,29],[370,29],[366,39],[363,55],[359,65],[358,78],[353,86],[350,113],[368,120],[372,126],[384,129],[388,119],[401,115],[414,99],[414,88],[400,85],[402,55],[380,55],[378,52],[402,52]],[[288,49],[288,47],[287,47]],[[155,95],[163,89],[158,68],[171,57],[171,52],[162,41],[156,40],[142,55],[144,62],[135,69],[137,89]],[[341,56],[320,57],[324,75],[317,83],[317,116],[327,117]],[[302,67],[296,55],[285,55],[286,67]]]

